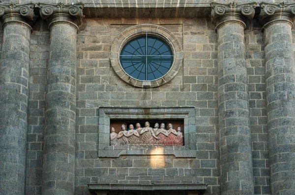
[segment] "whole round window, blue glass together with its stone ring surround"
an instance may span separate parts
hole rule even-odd
[[[170,82],[182,66],[177,37],[161,25],[140,24],[124,30],[113,42],[114,72],[129,85],[159,87]]]

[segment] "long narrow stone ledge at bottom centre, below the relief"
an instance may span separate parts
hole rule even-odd
[[[99,191],[197,191],[205,193],[207,184],[88,184],[90,192]]]

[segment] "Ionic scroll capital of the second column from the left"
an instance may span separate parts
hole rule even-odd
[[[38,6],[41,8],[41,18],[49,22],[49,29],[53,24],[67,23],[73,25],[78,31],[78,26],[82,24],[84,4],[81,2],[67,5],[61,2],[57,4],[38,3]]]

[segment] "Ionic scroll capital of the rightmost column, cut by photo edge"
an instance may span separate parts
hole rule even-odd
[[[263,31],[269,24],[285,22],[293,27],[293,17],[295,16],[295,3],[260,3],[260,19],[259,22],[263,24]]]

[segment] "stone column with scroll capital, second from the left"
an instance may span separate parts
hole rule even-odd
[[[38,4],[51,31],[42,194],[73,195],[75,187],[76,38],[83,3]]]

